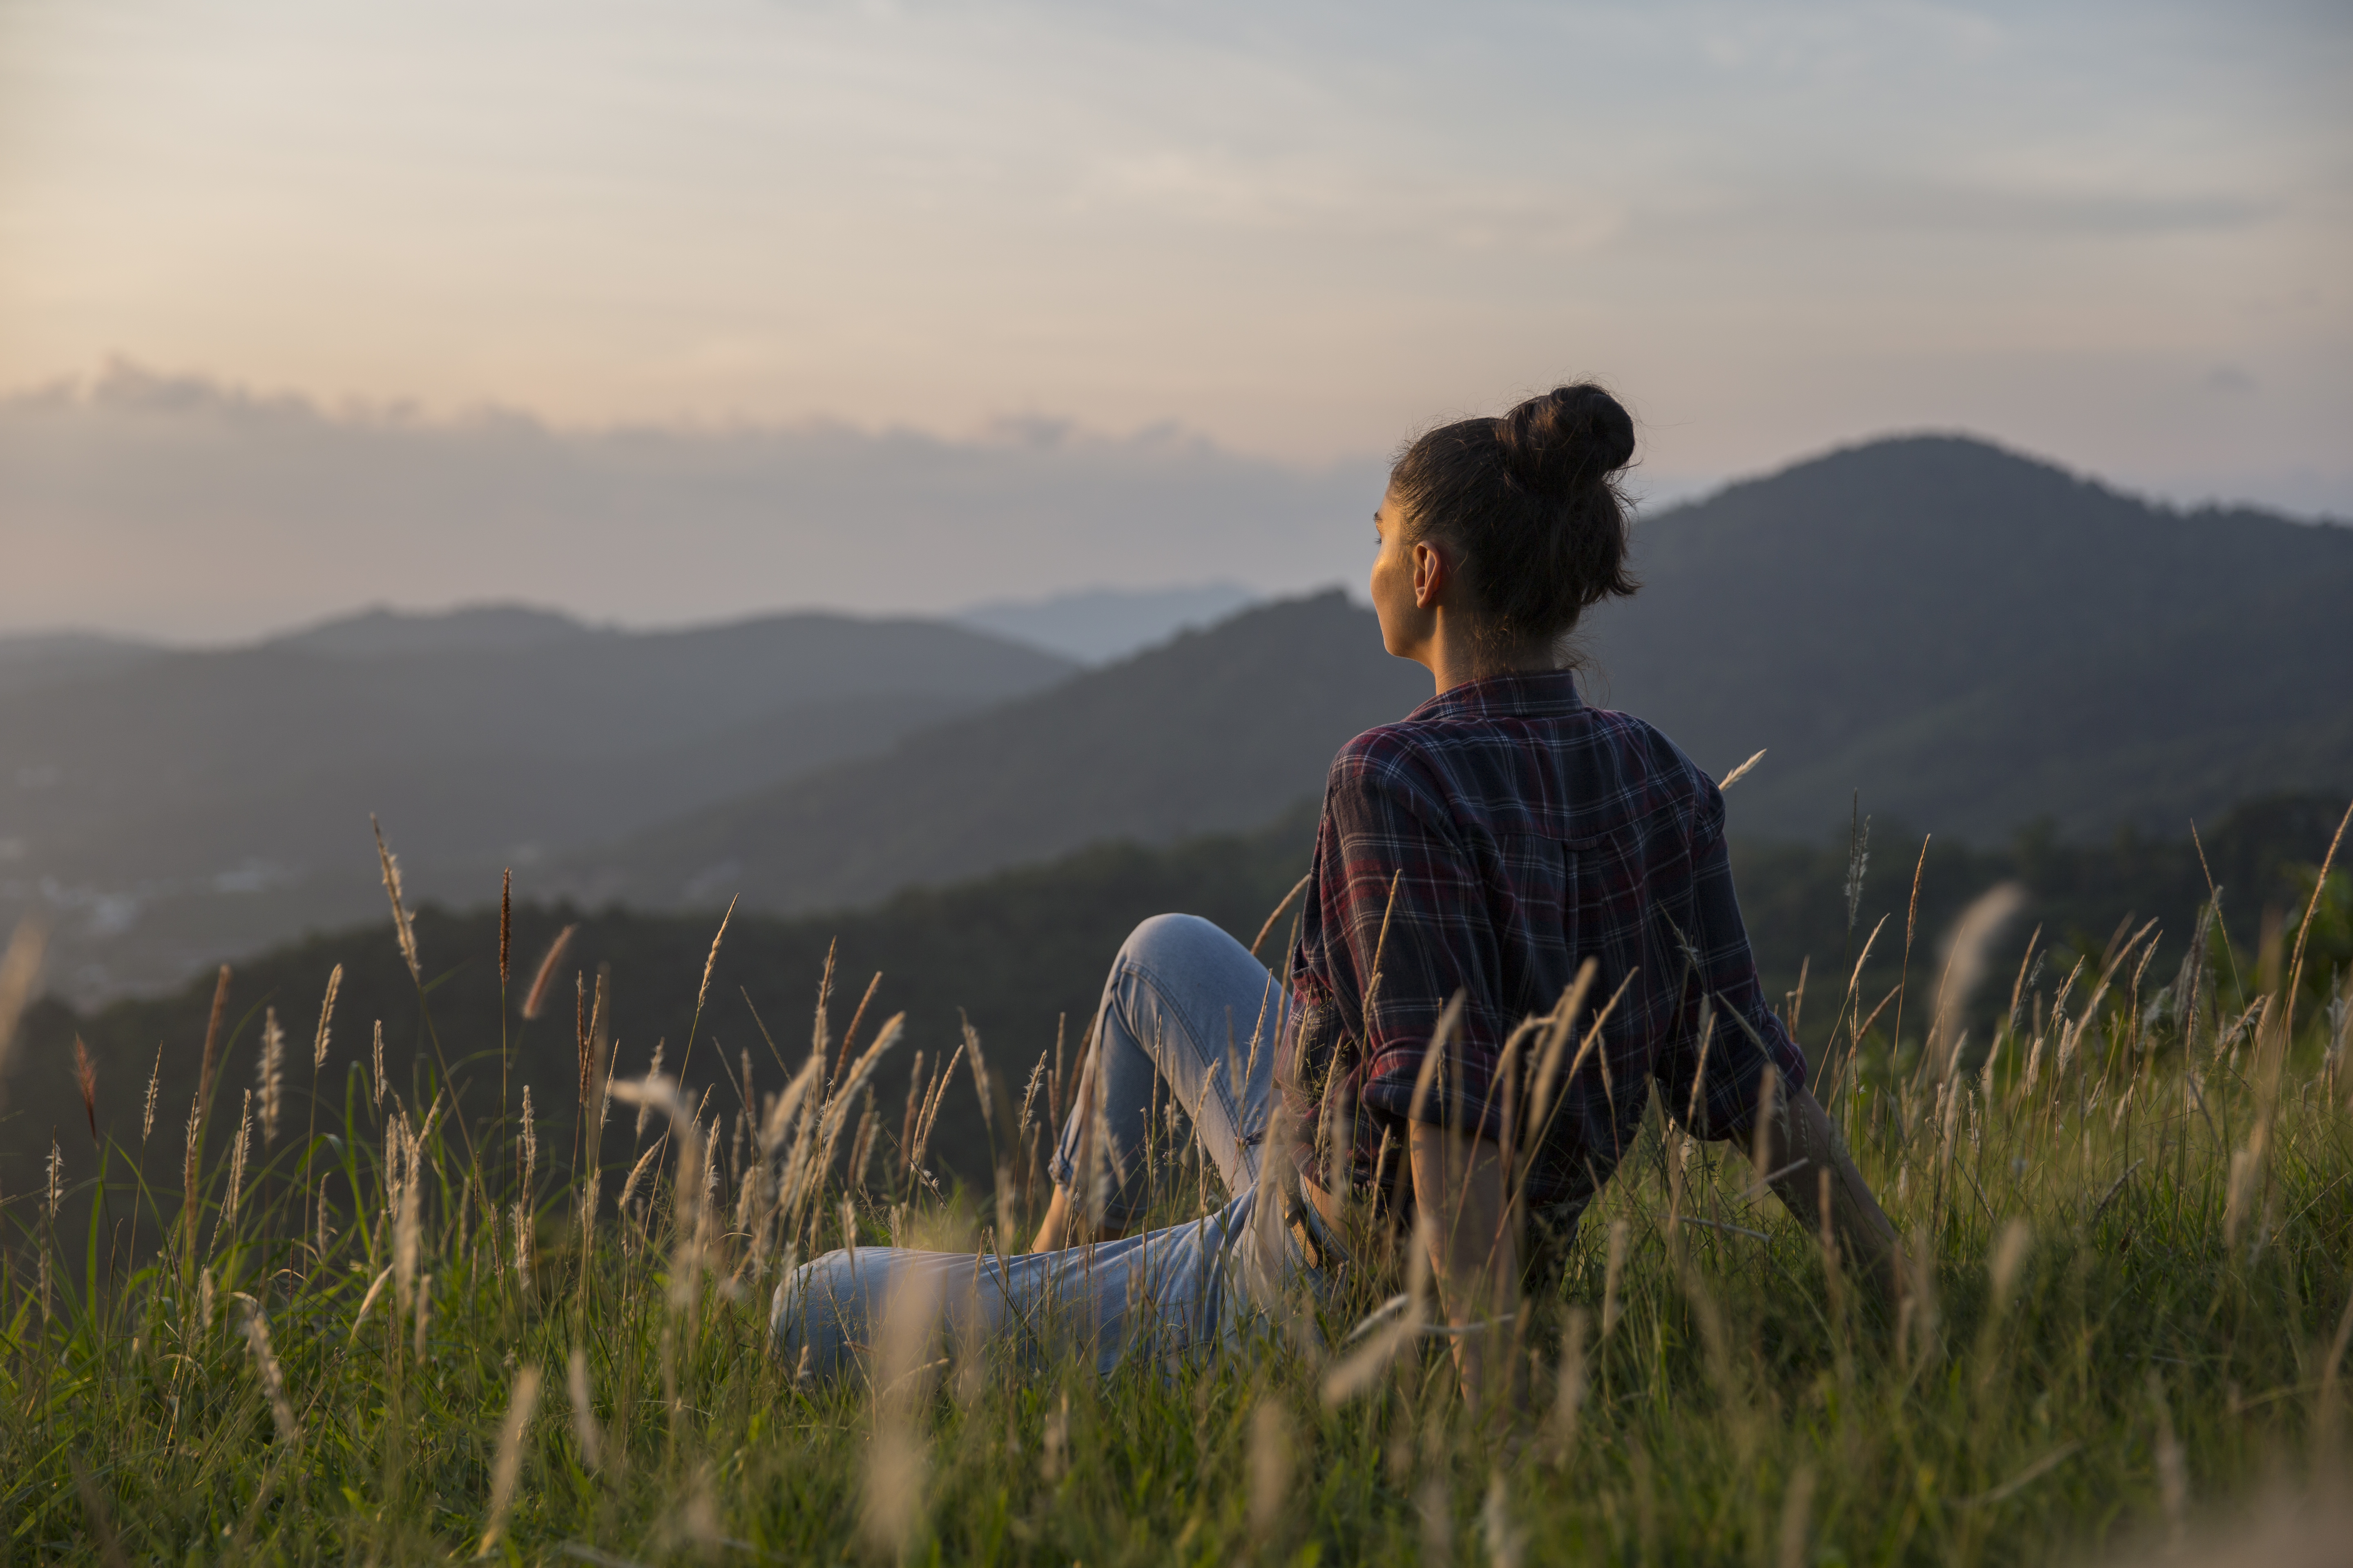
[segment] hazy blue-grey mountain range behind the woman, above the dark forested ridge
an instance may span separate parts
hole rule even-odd
[[[1765,750],[1727,797],[1746,839],[1821,842],[1854,792],[1882,823],[2000,842],[2035,818],[2179,832],[2353,780],[2346,527],[1904,437],[1664,510],[1635,567],[1642,592],[1581,637],[1586,684],[1711,773]],[[381,907],[372,811],[419,898],[478,905],[513,865],[536,898],[833,910],[1254,830],[1428,696],[1337,592],[1085,670],[842,616],[52,644],[0,644],[0,905],[49,912],[52,983],[85,997]]]

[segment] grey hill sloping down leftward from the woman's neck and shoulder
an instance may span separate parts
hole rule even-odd
[[[1245,830],[1322,785],[1348,736],[1431,677],[1339,592],[1245,611],[1108,670],[760,790],[612,851],[560,886],[647,907],[873,903],[1099,839]]]

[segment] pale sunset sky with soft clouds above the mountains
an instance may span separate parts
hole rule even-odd
[[[2348,80],[2261,0],[0,0],[0,628],[1353,578],[1579,374],[1657,496],[2353,515]]]

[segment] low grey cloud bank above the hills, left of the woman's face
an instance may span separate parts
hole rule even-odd
[[[1275,592],[1353,576],[1379,487],[1379,461],[1285,468],[1167,423],[560,430],[115,364],[0,400],[0,628],[216,639],[482,597],[664,623],[1202,576]]]

